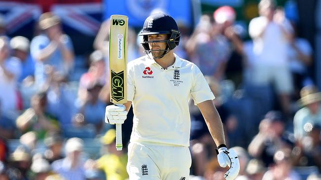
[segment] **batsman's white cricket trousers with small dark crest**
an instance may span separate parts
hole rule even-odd
[[[129,180],[188,180],[191,164],[188,147],[150,143],[128,145]]]

